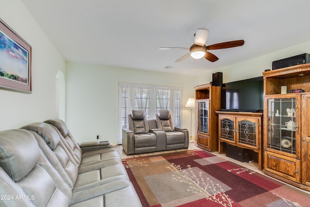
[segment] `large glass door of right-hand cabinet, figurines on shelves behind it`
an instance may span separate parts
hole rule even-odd
[[[268,143],[267,148],[296,155],[296,98],[268,99]]]

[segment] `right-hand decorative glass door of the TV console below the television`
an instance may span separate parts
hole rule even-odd
[[[239,145],[259,149],[260,120],[258,118],[236,118],[236,140]]]

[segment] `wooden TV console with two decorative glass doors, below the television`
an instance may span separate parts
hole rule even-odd
[[[225,143],[250,149],[256,153],[259,169],[263,169],[262,113],[217,111],[218,153],[225,153]]]

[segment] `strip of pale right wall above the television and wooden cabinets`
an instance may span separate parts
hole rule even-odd
[[[224,83],[263,76],[262,73],[266,69],[272,69],[273,61],[303,53],[310,53],[310,41],[268,53],[238,64],[229,65],[218,70],[211,70],[202,76],[196,77],[196,82],[198,85],[200,85],[212,81],[212,73],[215,72],[223,73]]]

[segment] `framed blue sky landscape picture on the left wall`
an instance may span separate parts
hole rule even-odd
[[[31,46],[1,19],[0,89],[31,94]]]

